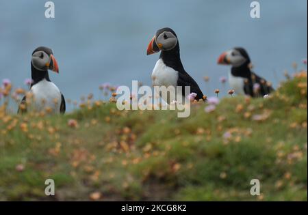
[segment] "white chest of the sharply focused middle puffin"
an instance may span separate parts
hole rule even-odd
[[[174,69],[166,66],[162,59],[159,59],[152,72],[153,86],[177,86],[179,74]]]

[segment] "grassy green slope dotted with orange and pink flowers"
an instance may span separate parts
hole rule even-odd
[[[224,98],[212,113],[195,104],[185,119],[114,104],[64,117],[0,113],[0,200],[307,201],[305,74],[271,98]],[[47,178],[55,197],[44,196]]]

